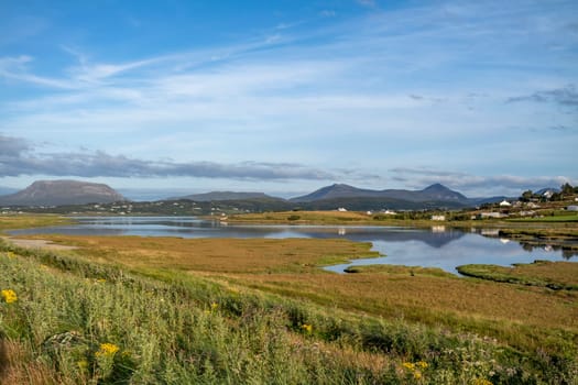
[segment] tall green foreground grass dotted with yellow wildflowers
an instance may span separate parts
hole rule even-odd
[[[576,362],[403,320],[0,244],[0,382],[572,383]],[[168,280],[168,277],[173,282]],[[555,362],[556,359],[557,361]],[[561,361],[560,361],[561,360]]]

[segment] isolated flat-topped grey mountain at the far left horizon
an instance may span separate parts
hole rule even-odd
[[[15,194],[0,197],[2,206],[64,206],[127,200],[107,185],[77,180],[37,180]]]

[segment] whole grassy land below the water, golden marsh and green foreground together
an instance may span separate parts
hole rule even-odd
[[[576,290],[318,268],[374,255],[343,240],[43,238],[77,249],[0,244],[0,383],[578,382]]]

